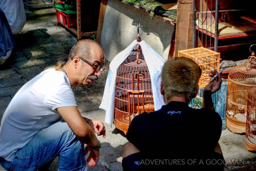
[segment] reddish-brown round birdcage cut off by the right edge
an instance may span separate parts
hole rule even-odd
[[[248,91],[245,147],[256,151],[256,87]]]

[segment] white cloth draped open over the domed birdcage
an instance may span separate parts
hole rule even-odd
[[[161,70],[165,60],[145,41],[138,43],[137,40],[134,40],[125,50],[115,56],[109,66],[109,73],[106,79],[103,98],[100,104],[100,108],[106,111],[105,122],[108,124],[112,124],[114,120],[116,70],[137,44],[140,44],[141,46],[144,59],[150,73],[155,110],[160,109],[161,106],[165,104],[160,93]]]

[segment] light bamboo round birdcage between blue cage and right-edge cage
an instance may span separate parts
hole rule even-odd
[[[234,66],[228,75],[226,124],[233,133],[245,133],[247,117],[247,93],[256,86],[254,53],[248,63]]]

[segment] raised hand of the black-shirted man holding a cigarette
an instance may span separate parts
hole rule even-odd
[[[209,76],[213,77],[215,74],[217,74],[217,77],[204,87],[203,94],[213,94],[221,88],[222,79],[217,70],[214,69],[214,71],[211,71]]]

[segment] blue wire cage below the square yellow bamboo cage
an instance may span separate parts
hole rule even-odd
[[[226,99],[227,99],[227,84],[222,83],[221,89],[212,94],[214,110],[221,116],[222,130],[226,129]],[[199,109],[203,105],[203,88],[199,88],[198,94],[189,104],[190,107]]]

